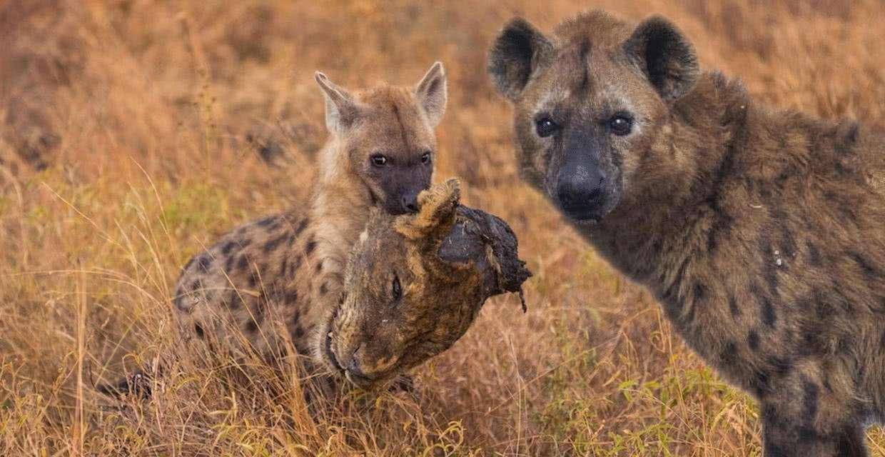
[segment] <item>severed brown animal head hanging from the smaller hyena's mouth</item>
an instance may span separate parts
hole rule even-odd
[[[351,383],[383,383],[448,349],[489,297],[530,273],[497,217],[458,205],[458,183],[419,195],[419,213],[374,209],[319,334],[319,357]]]

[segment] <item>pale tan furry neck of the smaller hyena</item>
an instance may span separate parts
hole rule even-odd
[[[333,140],[321,151],[323,163],[310,208],[317,256],[327,275],[342,275],[350,249],[365,229],[372,195],[353,172],[341,143]]]

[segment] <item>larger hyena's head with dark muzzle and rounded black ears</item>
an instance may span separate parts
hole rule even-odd
[[[489,74],[514,105],[523,177],[573,220],[600,221],[674,160],[651,145],[699,70],[666,19],[631,27],[585,12],[550,37],[513,19],[491,47]]]

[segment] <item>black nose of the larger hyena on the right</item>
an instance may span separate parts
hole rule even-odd
[[[559,175],[557,198],[566,215],[588,219],[603,202],[605,176],[596,168],[583,166]]]

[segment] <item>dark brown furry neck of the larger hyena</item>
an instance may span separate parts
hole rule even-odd
[[[737,217],[723,201],[734,189],[731,171],[743,160],[749,103],[739,81],[704,74],[673,106],[671,120],[650,145],[650,157],[672,154],[672,167],[647,174],[653,178],[643,183],[645,191],[582,229],[614,267],[652,290],[666,290],[705,249],[705,236]]]

